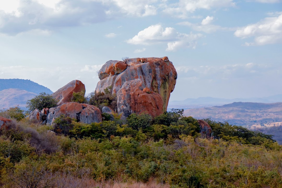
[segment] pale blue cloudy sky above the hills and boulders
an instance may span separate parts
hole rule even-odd
[[[0,78],[56,91],[122,57],[163,57],[171,100],[282,94],[281,0],[0,1]]]

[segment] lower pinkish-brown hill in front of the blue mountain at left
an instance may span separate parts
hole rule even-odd
[[[0,91],[0,109],[8,109],[18,105],[21,109],[27,109],[27,100],[36,96],[36,93],[22,89],[4,89]]]

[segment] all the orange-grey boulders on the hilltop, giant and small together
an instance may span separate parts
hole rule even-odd
[[[174,90],[177,72],[168,57],[149,57],[124,59],[124,61],[107,61],[98,72],[100,81],[95,93],[108,89],[117,97],[117,113],[122,118],[132,113],[147,113],[156,117],[166,112],[170,93]],[[73,93],[85,94],[85,85],[79,80],[73,80],[52,96],[58,100],[57,107],[35,109],[29,119],[36,123],[52,125],[55,118],[61,115],[74,118],[83,123],[101,122],[100,109],[89,104],[71,102]],[[103,107],[103,113],[113,120],[114,110]],[[202,134],[211,135],[211,128],[205,121],[198,121]],[[1,121],[0,121],[1,125]]]

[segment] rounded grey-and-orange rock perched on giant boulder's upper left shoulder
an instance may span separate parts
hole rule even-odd
[[[99,70],[99,79],[102,80],[109,76],[120,74],[127,67],[127,64],[122,61],[107,61],[105,65]]]

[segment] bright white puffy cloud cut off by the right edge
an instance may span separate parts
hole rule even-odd
[[[262,21],[237,29],[234,33],[242,39],[254,37],[253,43],[246,45],[266,45],[282,42],[282,14],[277,17],[266,17]]]

